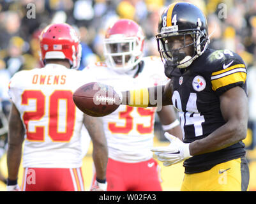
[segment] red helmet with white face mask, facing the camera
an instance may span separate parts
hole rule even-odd
[[[104,55],[110,68],[126,72],[138,64],[143,55],[144,33],[133,20],[117,20],[107,29]]]

